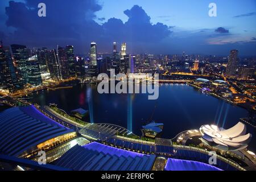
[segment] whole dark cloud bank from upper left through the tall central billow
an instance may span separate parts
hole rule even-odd
[[[46,3],[47,16],[39,18],[38,4]],[[152,24],[150,16],[135,5],[124,11],[127,22],[111,18],[100,25],[95,13],[101,6],[94,0],[27,0],[26,3],[10,1],[6,7],[6,25],[15,31],[8,37],[9,44],[25,44],[30,47],[53,47],[57,44],[76,46],[79,53],[89,50],[92,41],[97,42],[100,51],[109,51],[110,42],[137,43],[139,46],[156,43],[167,38],[171,31],[163,23]],[[7,39],[7,38],[6,38]]]

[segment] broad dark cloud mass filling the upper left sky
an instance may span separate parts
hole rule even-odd
[[[93,20],[96,11],[101,10],[95,1],[45,0],[47,14],[44,18],[38,16],[39,2],[9,2],[6,7],[6,26],[15,28],[7,40],[10,44],[30,47],[74,44],[84,47],[81,40],[89,42],[101,34],[100,25]]]

